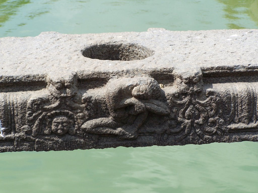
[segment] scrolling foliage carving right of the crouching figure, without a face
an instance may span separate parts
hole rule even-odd
[[[195,132],[207,142],[227,132],[216,92],[203,89],[201,71],[180,71],[175,75],[177,92],[168,95],[168,103],[178,125],[170,130],[177,140]]]

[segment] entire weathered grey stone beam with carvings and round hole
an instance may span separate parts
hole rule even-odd
[[[0,152],[258,141],[258,30],[0,38]]]

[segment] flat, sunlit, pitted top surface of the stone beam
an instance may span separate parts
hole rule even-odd
[[[147,32],[101,34],[42,32],[36,37],[0,38],[0,45],[0,80],[3,76],[42,76],[68,71],[80,74],[195,66],[204,71],[258,68],[256,29],[168,31],[150,28]]]

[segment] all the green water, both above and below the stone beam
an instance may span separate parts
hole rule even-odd
[[[0,37],[258,27],[258,0],[0,0]],[[1,46],[1,45],[0,45]],[[0,193],[258,192],[258,143],[0,154]]]

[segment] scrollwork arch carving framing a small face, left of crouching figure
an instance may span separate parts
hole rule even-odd
[[[75,135],[78,126],[76,113],[82,111],[83,104],[78,104],[77,76],[49,79],[49,93],[41,98],[30,98],[27,104],[26,123],[31,128],[31,135]],[[72,112],[73,111],[73,112]]]

